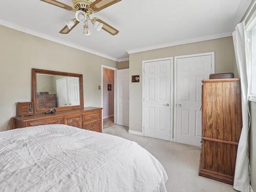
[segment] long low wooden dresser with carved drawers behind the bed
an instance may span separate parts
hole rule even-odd
[[[59,111],[55,114],[41,114],[16,117],[14,129],[46,124],[66,124],[84,130],[91,130],[101,133],[101,119],[102,108],[88,107],[77,110]]]

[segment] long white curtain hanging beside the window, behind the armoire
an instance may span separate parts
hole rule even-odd
[[[238,145],[236,171],[234,174],[234,189],[242,192],[250,191],[248,131],[250,126],[249,90],[251,80],[250,52],[246,40],[245,24],[240,23],[233,32],[234,52],[236,54],[238,73],[241,80],[243,129]]]

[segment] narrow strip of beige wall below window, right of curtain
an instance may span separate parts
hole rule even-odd
[[[249,157],[251,166],[251,186],[256,191],[256,102],[250,103],[251,129],[249,137]]]

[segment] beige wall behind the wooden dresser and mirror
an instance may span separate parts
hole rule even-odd
[[[83,74],[84,105],[100,106],[101,65],[117,62],[0,26],[0,131],[15,116],[15,103],[31,101],[31,69]]]

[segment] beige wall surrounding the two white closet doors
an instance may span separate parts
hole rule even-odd
[[[205,52],[215,52],[216,73],[233,72],[237,76],[232,37],[130,54],[130,76],[142,75],[143,60]],[[130,129],[142,131],[142,81],[130,83]]]

